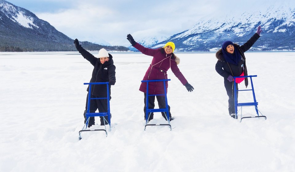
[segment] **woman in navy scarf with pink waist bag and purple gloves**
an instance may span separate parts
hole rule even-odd
[[[224,78],[224,86],[228,96],[228,111],[231,117],[235,118],[234,109],[234,81],[233,76],[247,76],[246,58],[244,52],[252,47],[252,45],[260,37],[262,32],[261,26],[258,26],[256,33],[244,44],[238,45],[231,41],[225,41],[222,44],[222,49],[216,53],[218,59],[215,70]],[[247,78],[236,78],[236,88],[238,89],[238,83],[245,79],[245,85],[248,86]],[[238,92],[237,92],[238,98]]]

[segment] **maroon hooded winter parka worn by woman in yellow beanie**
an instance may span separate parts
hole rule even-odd
[[[166,54],[165,51],[159,49],[149,49],[144,46],[136,43],[134,45],[141,53],[153,56],[150,66],[148,67],[147,72],[144,75],[143,80],[163,80],[168,79],[167,70],[171,68],[174,75],[180,80],[184,85],[187,83],[187,80],[180,72],[177,64],[179,64],[179,58],[175,56],[174,53]],[[168,81],[166,81],[166,92],[168,88]],[[147,92],[147,83],[142,82],[139,88],[140,91]],[[150,82],[148,84],[148,93],[149,94],[164,94],[164,84],[163,82]]]

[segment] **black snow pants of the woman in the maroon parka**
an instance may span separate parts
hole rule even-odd
[[[166,101],[165,101],[164,96],[148,96],[148,108],[149,109],[155,108],[155,97],[157,98],[159,108],[160,109],[166,108]],[[144,120],[145,120],[145,116],[146,116],[146,101],[147,101],[147,93],[144,93]],[[173,119],[171,117],[169,105],[168,105],[168,110],[169,110],[169,118],[171,121]],[[163,118],[165,118],[167,120],[167,116],[165,115],[165,113],[164,112],[161,112],[161,113],[162,113]],[[151,119],[154,119],[154,113],[151,113],[150,117],[148,118],[148,121],[150,121]]]

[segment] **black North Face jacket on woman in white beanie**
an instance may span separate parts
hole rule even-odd
[[[100,59],[94,57],[91,53],[83,49],[81,46],[78,48],[79,53],[88,60],[93,66],[93,72],[90,82],[109,82],[110,80],[116,81],[116,66],[114,65],[113,57],[109,55],[109,60],[101,64]],[[89,92],[89,86],[87,88]],[[111,85],[109,84],[109,93],[111,96]],[[92,85],[91,95],[98,97],[107,97],[106,84]],[[111,98],[111,97],[110,97]]]

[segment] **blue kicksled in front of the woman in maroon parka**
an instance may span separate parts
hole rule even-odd
[[[164,94],[154,94],[154,95],[149,95],[148,94],[148,83],[149,82],[163,82],[164,84]],[[168,101],[167,101],[167,92],[166,92],[166,84],[165,81],[170,81],[170,79],[167,80],[142,80],[141,82],[146,82],[147,83],[147,98],[146,98],[146,113],[145,113],[145,126],[144,126],[144,130],[146,129],[147,126],[161,126],[161,125],[167,125],[170,127],[170,131],[171,131],[171,125],[170,125],[170,118],[169,118],[169,109],[168,109]],[[165,96],[165,103],[166,103],[166,107],[165,108],[161,108],[161,109],[150,109],[148,107],[148,97],[149,96]],[[150,118],[151,113],[153,112],[164,112],[166,119],[168,121],[168,124],[148,124],[148,119]]]

